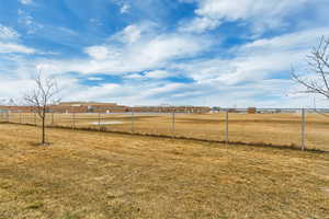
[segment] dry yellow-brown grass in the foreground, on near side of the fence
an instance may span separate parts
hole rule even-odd
[[[206,119],[206,118],[205,118]],[[0,218],[329,218],[329,155],[0,124]]]

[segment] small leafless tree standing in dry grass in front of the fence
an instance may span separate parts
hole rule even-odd
[[[59,89],[55,78],[43,77],[42,73],[34,79],[35,88],[25,93],[24,101],[27,105],[33,106],[42,119],[42,145],[46,145],[46,116],[48,106],[59,102],[57,97]]]

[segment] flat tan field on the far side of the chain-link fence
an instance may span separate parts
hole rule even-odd
[[[47,125],[109,131],[225,140],[225,113],[219,114],[49,114]],[[299,114],[229,114],[228,139],[232,142],[300,147]],[[35,124],[33,114],[10,114],[10,122]],[[100,125],[99,125],[100,122]],[[307,114],[305,143],[329,151],[329,116]]]

